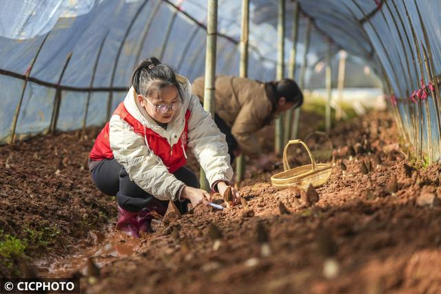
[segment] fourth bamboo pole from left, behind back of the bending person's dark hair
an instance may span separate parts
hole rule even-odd
[[[292,21],[291,30],[292,47],[289,54],[288,77],[294,80],[294,78],[296,77],[296,46],[298,41],[298,1],[294,2],[293,17],[294,19]],[[292,109],[289,109],[285,114],[285,143],[288,142],[289,139],[291,139],[292,124]]]

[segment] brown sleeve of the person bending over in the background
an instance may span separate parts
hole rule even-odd
[[[259,107],[256,103],[248,102],[240,109],[232,125],[232,135],[236,138],[240,150],[252,158],[260,154],[260,143],[255,132],[262,127],[265,118],[270,114],[268,107]]]

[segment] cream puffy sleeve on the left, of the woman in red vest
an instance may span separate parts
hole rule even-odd
[[[119,116],[110,119],[110,148],[130,180],[159,200],[176,200],[185,184],[170,174],[161,158],[146,145],[143,136]]]

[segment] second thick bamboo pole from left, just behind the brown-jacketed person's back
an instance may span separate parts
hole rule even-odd
[[[240,36],[240,67],[239,76],[248,76],[248,34],[249,34],[249,0],[242,0],[242,34]],[[243,179],[245,158],[240,154],[236,159],[236,182]]]

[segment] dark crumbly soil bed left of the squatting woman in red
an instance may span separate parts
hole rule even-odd
[[[89,246],[97,240],[94,230],[114,220],[114,200],[94,187],[87,167],[97,132],[0,147],[0,276],[20,276],[24,264]]]

